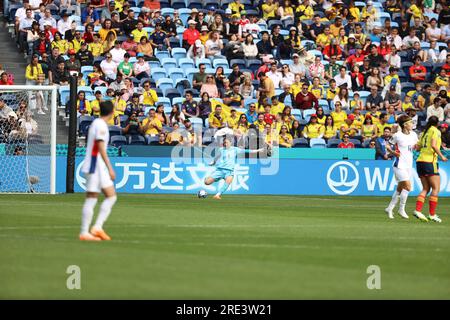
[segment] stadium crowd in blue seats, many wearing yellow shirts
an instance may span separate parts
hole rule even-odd
[[[68,106],[77,76],[80,134],[112,99],[113,145],[202,145],[202,131],[229,127],[237,140],[256,132],[269,145],[367,147],[387,159],[402,113],[417,131],[438,116],[450,143],[446,0],[24,0],[8,10],[27,84],[59,85]]]

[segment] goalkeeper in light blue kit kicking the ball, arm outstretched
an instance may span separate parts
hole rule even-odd
[[[211,166],[215,166],[216,170],[211,176],[205,178],[205,184],[208,186],[224,179],[225,183],[220,188],[219,192],[214,196],[214,199],[221,199],[221,195],[228,189],[234,177],[234,167],[237,162],[237,158],[243,153],[259,153],[264,149],[257,150],[244,150],[232,146],[233,137],[223,137],[223,147],[218,149],[218,154],[214,161],[210,163]]]

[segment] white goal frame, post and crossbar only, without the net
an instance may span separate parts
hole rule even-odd
[[[0,93],[13,91],[49,91],[50,109],[50,194],[56,194],[56,122],[58,109],[58,86],[48,85],[0,85]]]

